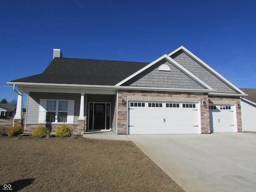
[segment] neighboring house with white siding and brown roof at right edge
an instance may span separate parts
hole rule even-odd
[[[241,99],[242,130],[256,131],[256,89],[240,89],[248,94]]]

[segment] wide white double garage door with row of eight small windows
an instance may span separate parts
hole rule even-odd
[[[198,103],[128,101],[128,134],[200,134]]]

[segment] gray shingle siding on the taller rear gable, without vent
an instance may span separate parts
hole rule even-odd
[[[208,84],[213,89],[216,89],[216,92],[220,93],[237,93],[232,88],[227,86],[224,82],[210,73],[206,68],[198,64],[195,60],[190,58],[187,54],[182,51],[179,51],[171,56],[176,62],[181,64],[187,70],[192,72],[198,78],[200,78],[203,82]]]

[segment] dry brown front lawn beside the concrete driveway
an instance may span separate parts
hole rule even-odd
[[[0,189],[183,192],[130,141],[0,137]]]

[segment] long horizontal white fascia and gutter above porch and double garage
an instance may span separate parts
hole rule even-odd
[[[73,88],[73,89],[92,89],[92,90],[154,90],[170,92],[200,92],[211,93],[213,89],[190,89],[190,88],[165,88],[165,87],[140,87],[140,86],[106,86],[106,85],[80,85],[80,84],[53,84],[53,83],[28,83],[28,82],[7,82],[7,84],[21,87],[34,88]],[[79,91],[80,92],[80,91]]]

